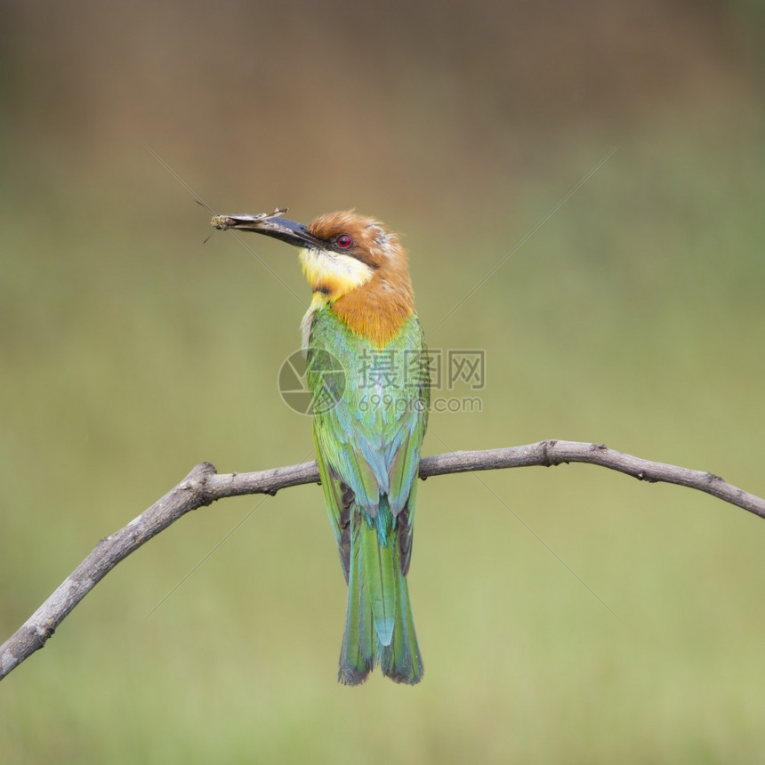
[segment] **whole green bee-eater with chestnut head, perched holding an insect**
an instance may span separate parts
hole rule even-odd
[[[302,320],[313,438],[348,584],[338,680],[415,685],[423,658],[407,588],[417,477],[430,403],[428,355],[399,236],[354,211],[309,225],[272,214],[213,226],[299,248],[312,299]]]

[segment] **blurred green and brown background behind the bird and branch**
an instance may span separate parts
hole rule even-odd
[[[216,211],[405,235],[431,346],[487,355],[426,454],[592,440],[765,495],[761,4],[2,15],[0,638],[194,464],[311,455],[276,386],[294,252],[200,246],[147,147]],[[417,516],[420,686],[335,682],[345,586],[298,487],[109,574],[0,686],[0,761],[765,761],[760,519],[584,465],[431,479]]]

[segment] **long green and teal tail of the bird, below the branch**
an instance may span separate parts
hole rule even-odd
[[[376,522],[351,508],[348,612],[338,680],[358,685],[376,664],[396,682],[423,677],[407,579],[401,569],[398,529],[383,497]]]

